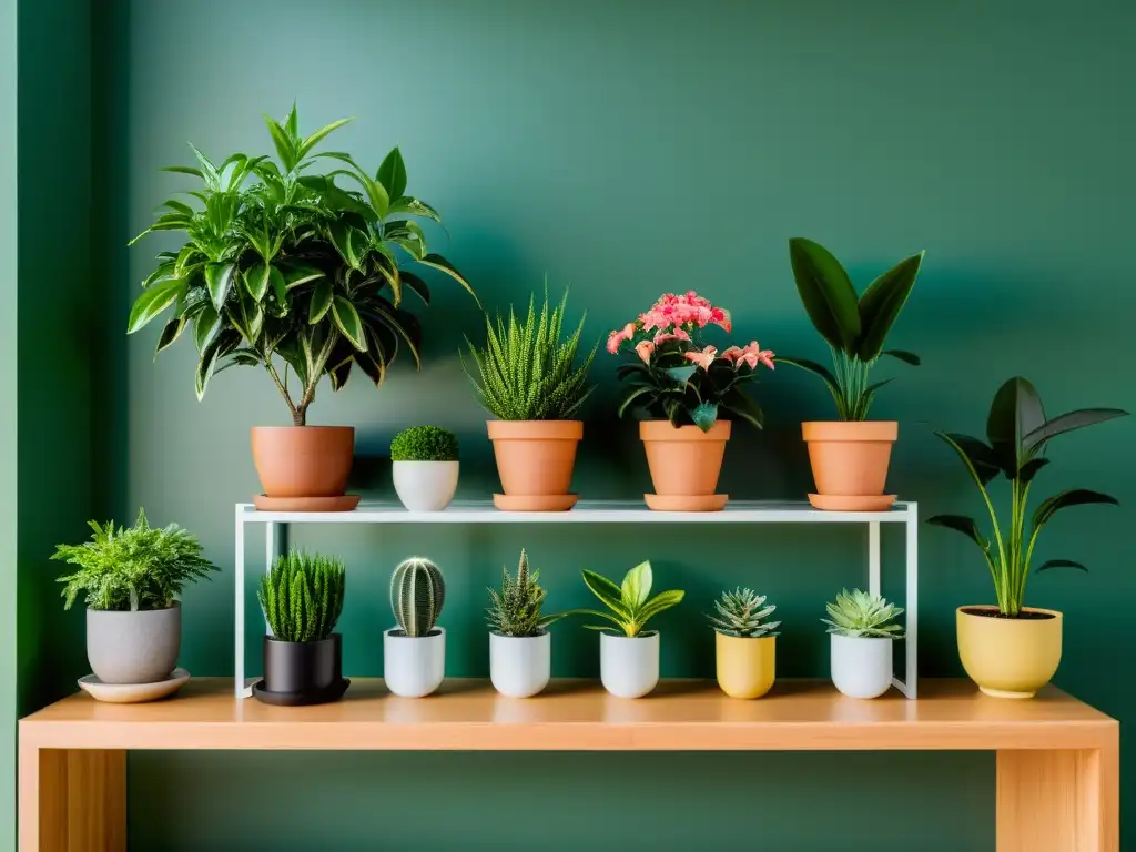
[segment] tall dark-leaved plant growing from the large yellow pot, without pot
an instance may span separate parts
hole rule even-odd
[[[962,515],[936,515],[928,518],[927,523],[962,533],[978,545],[994,580],[1001,615],[1013,617],[1021,612],[1037,536],[1056,512],[1071,506],[1119,504],[1116,498],[1099,491],[1067,488],[1041,501],[1034,509],[1027,528],[1029,491],[1034,478],[1050,463],[1050,459],[1045,457],[1050,441],[1067,432],[1125,417],[1127,414],[1116,408],[1089,408],[1047,419],[1036,389],[1017,376],[994,394],[986,419],[988,444],[969,435],[935,433],[958,453],[970,478],[978,486],[989,515],[994,540],[991,541],[982,532],[974,518]],[[1010,517],[1006,520],[1003,516],[1001,521],[987,490],[987,485],[999,474],[1010,483]],[[1050,559],[1037,570],[1050,568],[1087,570],[1084,565],[1071,559]]]

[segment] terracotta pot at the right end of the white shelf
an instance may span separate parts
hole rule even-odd
[[[887,482],[892,444],[900,434],[895,420],[847,420],[801,424],[817,493],[833,496],[879,496]]]

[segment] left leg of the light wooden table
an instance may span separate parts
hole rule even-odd
[[[19,851],[125,852],[126,752],[19,744]]]

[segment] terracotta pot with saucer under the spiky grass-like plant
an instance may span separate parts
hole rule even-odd
[[[540,511],[548,503],[542,498],[568,494],[582,421],[490,420],[488,433],[510,509]],[[533,498],[533,506],[526,507],[524,498]]]

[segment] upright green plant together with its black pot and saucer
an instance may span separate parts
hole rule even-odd
[[[343,644],[333,633],[343,612],[346,571],[332,557],[290,551],[260,579],[257,598],[268,623],[265,677],[252,694],[267,704],[324,704],[340,699]]]

